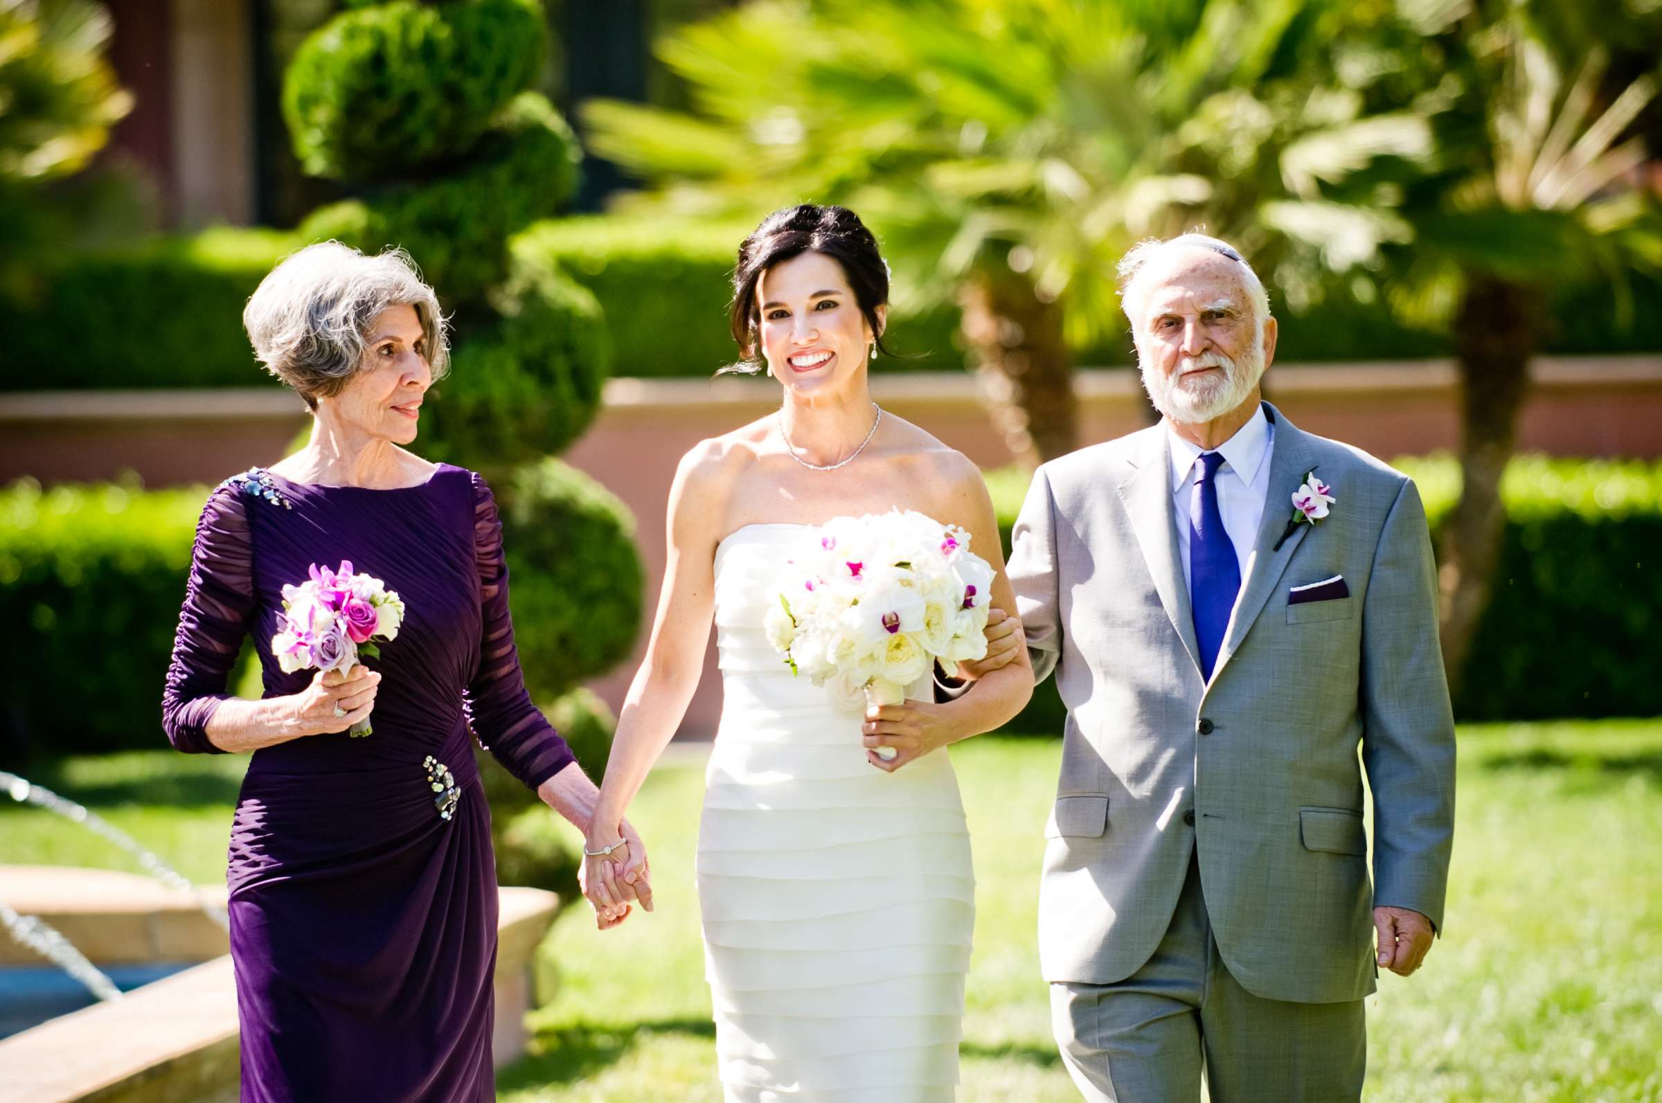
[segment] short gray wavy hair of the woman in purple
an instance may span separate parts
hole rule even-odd
[[[259,281],[243,309],[243,329],[266,370],[306,405],[341,394],[364,362],[374,321],[396,306],[416,307],[434,380],[450,370],[450,342],[439,296],[404,249],[364,256],[339,241],[289,254]]]

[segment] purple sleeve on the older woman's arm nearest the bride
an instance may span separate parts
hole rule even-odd
[[[490,487],[474,475],[474,558],[479,565],[479,673],[467,686],[467,719],[479,743],[522,782],[535,789],[575,761],[572,749],[532,704],[514,648],[509,568],[502,558],[502,522]]]

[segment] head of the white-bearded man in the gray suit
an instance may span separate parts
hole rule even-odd
[[[1128,291],[1137,362],[1155,409],[1202,424],[1251,397],[1275,351],[1275,319],[1258,324],[1240,264],[1180,246],[1148,261]]]

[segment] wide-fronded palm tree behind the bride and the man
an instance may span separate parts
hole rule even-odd
[[[896,306],[961,307],[996,425],[1032,467],[1079,444],[1070,349],[1124,334],[1114,271],[1137,239],[1205,224],[1310,291],[1311,271],[1406,234],[1368,196],[1326,194],[1431,141],[1335,76],[1341,7],[751,3],[660,43],[693,111],[583,118],[656,184],[637,204],[755,218],[813,198],[879,226]]]

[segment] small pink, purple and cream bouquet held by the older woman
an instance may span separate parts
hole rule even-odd
[[[394,640],[404,623],[404,601],[387,583],[354,575],[351,561],[339,570],[311,565],[311,578],[283,588],[283,620],[271,638],[271,654],[286,674],[301,669],[347,673],[362,659],[381,658],[376,640]],[[367,736],[367,719],[351,734]]]

